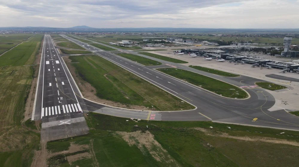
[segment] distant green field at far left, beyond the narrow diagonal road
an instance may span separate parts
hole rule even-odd
[[[0,54],[16,46],[18,43],[25,42],[27,38],[34,34],[5,34],[0,35]]]

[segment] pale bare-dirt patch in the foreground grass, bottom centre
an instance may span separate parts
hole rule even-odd
[[[137,146],[143,153],[149,151],[155,160],[164,163],[164,166],[180,166],[179,163],[170,156],[170,154],[165,150],[157,140],[155,140],[154,135],[149,131],[141,132],[116,132],[121,135],[123,140],[125,140],[129,146]]]

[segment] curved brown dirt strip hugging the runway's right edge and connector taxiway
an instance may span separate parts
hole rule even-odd
[[[71,72],[71,75],[73,76],[75,82],[77,83],[77,85],[80,89],[80,92],[82,93],[84,98],[89,99],[91,101],[95,101],[97,103],[105,104],[107,106],[114,106],[114,107],[120,107],[120,108],[126,108],[126,109],[136,109],[136,110],[150,110],[150,109],[146,108],[145,106],[122,104],[122,103],[98,98],[96,95],[97,90],[93,86],[91,86],[91,84],[84,81],[76,73],[75,67],[73,67],[71,64],[68,64],[68,63],[71,63],[71,59],[69,59],[68,57],[69,56],[64,56],[63,60],[65,61],[69,71]]]

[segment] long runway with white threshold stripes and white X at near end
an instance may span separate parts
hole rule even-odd
[[[42,120],[41,140],[55,140],[88,132],[83,113],[76,113],[86,109],[86,106],[83,99],[77,99],[76,93],[80,93],[74,86],[50,35],[45,35],[32,116],[32,120]],[[80,121],[74,122],[73,119]],[[46,123],[51,126],[45,126]]]

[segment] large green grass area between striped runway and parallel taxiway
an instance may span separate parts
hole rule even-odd
[[[124,104],[146,106],[157,110],[193,109],[189,103],[149,84],[142,78],[99,56],[69,57],[76,73],[96,89],[99,98]],[[74,74],[73,74],[74,75]]]

